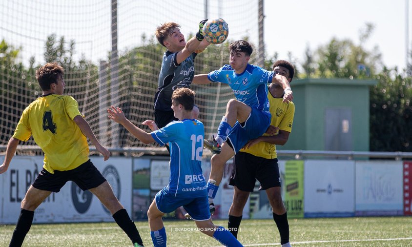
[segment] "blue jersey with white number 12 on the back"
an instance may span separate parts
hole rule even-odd
[[[160,145],[170,145],[170,179],[164,190],[183,198],[207,196],[202,172],[205,129],[198,120],[173,121],[151,132]]]

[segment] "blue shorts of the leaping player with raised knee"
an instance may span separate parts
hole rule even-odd
[[[270,114],[252,108],[249,117],[242,126],[236,122],[227,135],[227,143],[233,148],[235,154],[251,139],[263,135],[270,125]]]

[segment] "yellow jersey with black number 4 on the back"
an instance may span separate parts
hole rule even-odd
[[[71,96],[48,94],[27,106],[13,137],[26,142],[31,135],[44,152],[44,169],[72,170],[89,159],[87,138],[73,121],[82,116]]]

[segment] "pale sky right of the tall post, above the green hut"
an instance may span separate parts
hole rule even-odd
[[[277,51],[279,59],[287,59],[290,51],[302,62],[307,44],[313,51],[332,37],[359,44],[359,30],[371,22],[375,29],[365,47],[372,50],[377,45],[385,65],[405,68],[406,0],[265,0],[264,4],[266,48],[268,54]]]

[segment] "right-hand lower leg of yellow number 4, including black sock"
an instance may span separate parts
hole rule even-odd
[[[123,229],[123,231],[132,241],[133,245],[143,246],[143,241],[140,237],[139,231],[127,214],[126,209],[124,209],[122,204],[120,204],[119,200],[114,195],[110,184],[105,181],[103,184],[89,189],[89,191],[92,192],[110,211],[117,225],[119,225],[120,228]]]

